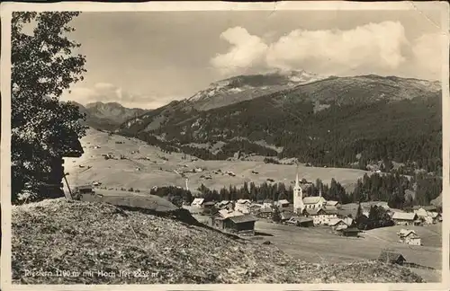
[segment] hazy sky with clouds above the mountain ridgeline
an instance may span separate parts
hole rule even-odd
[[[61,100],[154,109],[233,75],[441,75],[440,15],[427,11],[81,13],[85,80]]]

